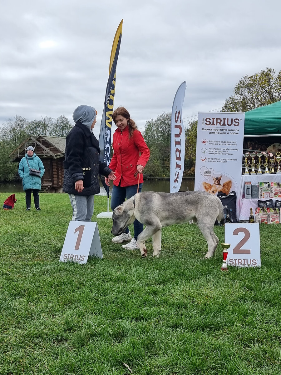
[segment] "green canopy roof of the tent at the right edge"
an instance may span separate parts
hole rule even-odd
[[[245,112],[244,135],[281,135],[281,101]]]

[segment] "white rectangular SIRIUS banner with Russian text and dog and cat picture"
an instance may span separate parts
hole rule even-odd
[[[238,193],[244,118],[244,113],[198,113],[194,190]]]

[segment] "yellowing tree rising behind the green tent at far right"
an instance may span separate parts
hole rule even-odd
[[[281,71],[266,68],[253,75],[244,75],[226,99],[222,112],[246,112],[281,100]]]

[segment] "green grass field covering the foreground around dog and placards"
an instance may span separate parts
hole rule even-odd
[[[98,219],[104,258],[80,265],[59,262],[68,195],[40,194],[40,212],[16,198],[0,211],[0,375],[281,374],[281,225],[260,226],[260,269],[221,272],[196,225],[141,259]],[[93,220],[106,209],[96,196]]]

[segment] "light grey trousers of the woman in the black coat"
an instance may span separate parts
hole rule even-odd
[[[94,195],[69,194],[73,209],[72,220],[91,221],[94,213]]]

